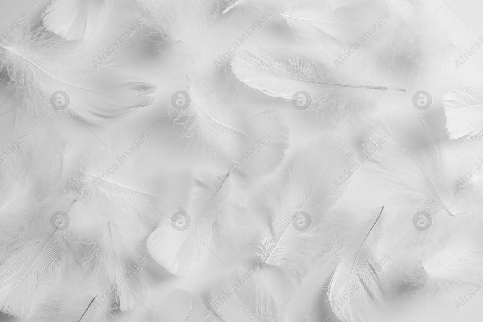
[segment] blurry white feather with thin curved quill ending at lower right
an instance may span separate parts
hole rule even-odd
[[[412,121],[411,127],[417,128],[417,133],[420,133],[418,144],[411,143],[410,138],[404,136],[401,129],[393,126],[392,130],[389,130],[387,124],[395,124],[390,118],[384,126],[372,124],[363,139],[364,154],[374,154],[370,153],[369,149],[374,149],[374,142],[384,138],[384,134],[388,133],[391,139],[386,141],[380,152],[371,156],[369,168],[379,175],[383,182],[392,183],[391,188],[398,196],[403,196],[411,202],[424,202],[426,206],[441,207],[449,216],[453,216],[454,213],[447,206],[451,205],[451,198],[443,201],[445,196],[451,196],[453,192],[444,177],[444,172],[439,168],[441,156],[434,146],[429,129],[420,115],[413,112],[406,116],[410,120],[408,123]],[[398,117],[402,119],[403,113],[399,113]]]

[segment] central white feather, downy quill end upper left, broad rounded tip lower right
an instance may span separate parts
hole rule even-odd
[[[171,109],[176,122],[185,127],[185,135],[227,169],[237,163],[243,173],[265,176],[273,172],[284,160],[289,145],[283,115],[241,98],[239,102],[225,98],[224,91],[213,93],[202,85],[197,87],[190,87],[189,108]],[[256,144],[261,150],[255,151]],[[253,156],[242,163],[247,152]]]

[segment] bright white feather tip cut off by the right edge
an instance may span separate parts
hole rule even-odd
[[[483,88],[452,90],[443,96],[446,130],[451,139],[477,138],[483,132]]]

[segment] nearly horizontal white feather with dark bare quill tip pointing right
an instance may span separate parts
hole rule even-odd
[[[310,111],[337,121],[371,111],[382,92],[405,91],[384,84],[361,84],[364,75],[342,73],[291,48],[245,50],[232,58],[230,66],[241,82],[272,97],[294,104],[303,91],[305,99],[310,99]]]

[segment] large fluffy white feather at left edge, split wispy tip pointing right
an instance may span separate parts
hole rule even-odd
[[[45,28],[25,26],[0,44],[0,67],[22,89],[28,110],[107,122],[153,102],[155,86],[134,72],[99,68],[86,75],[90,62],[76,46]]]

